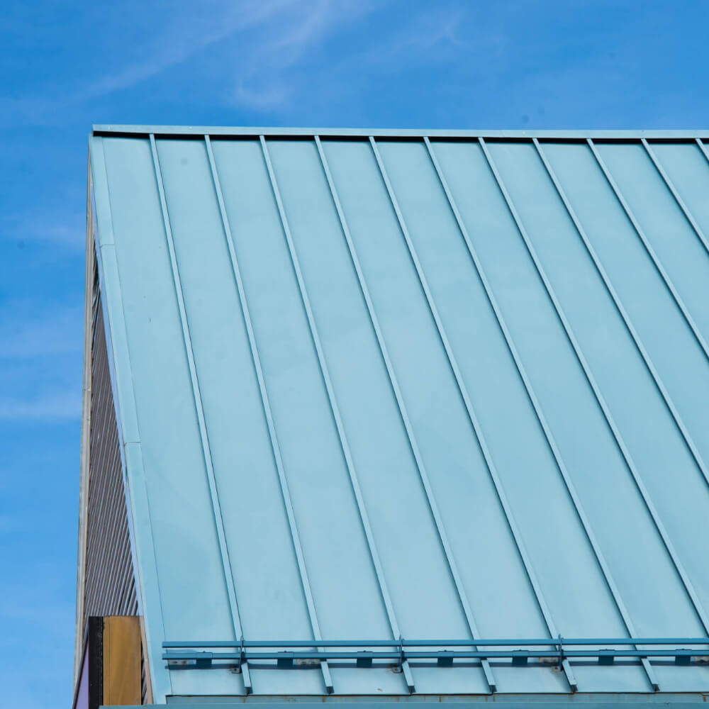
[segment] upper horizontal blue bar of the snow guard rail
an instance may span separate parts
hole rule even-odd
[[[467,638],[465,640],[166,640],[162,647],[534,647],[544,645],[709,645],[709,637],[562,637],[554,638]]]

